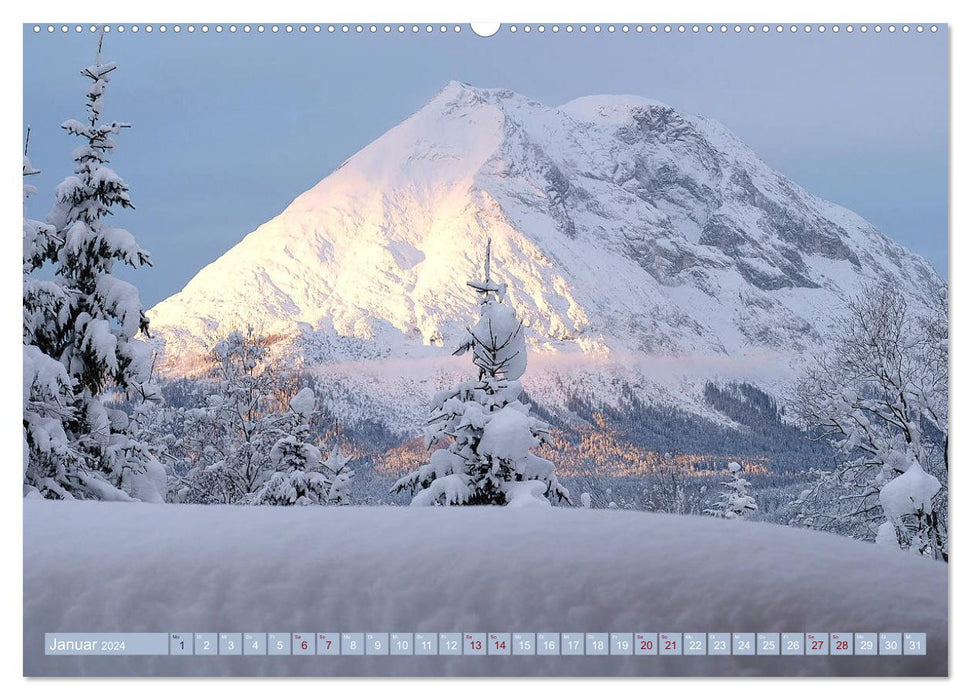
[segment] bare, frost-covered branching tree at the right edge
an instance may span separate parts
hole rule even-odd
[[[792,506],[794,524],[947,559],[947,302],[910,308],[871,287],[839,320],[830,351],[801,379],[805,425],[837,452]]]

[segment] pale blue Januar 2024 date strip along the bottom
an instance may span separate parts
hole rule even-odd
[[[923,632],[47,633],[47,656],[924,656]]]

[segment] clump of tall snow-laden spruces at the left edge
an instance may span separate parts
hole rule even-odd
[[[157,501],[164,490],[164,470],[135,438],[130,416],[107,405],[111,396],[157,398],[151,353],[137,338],[148,332],[138,290],[113,274],[116,264],[151,264],[130,233],[107,221],[114,209],[133,208],[128,185],[108,167],[114,137],[128,127],[102,119],[115,67],[102,61],[99,43],[81,71],[86,118],[61,125],[81,144],[46,222],[27,217],[34,191],[24,189],[26,495]],[[24,176],[37,172],[25,152]]]

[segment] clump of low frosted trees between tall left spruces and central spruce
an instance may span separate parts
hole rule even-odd
[[[216,343],[211,360],[214,392],[182,411],[185,473],[172,470],[177,500],[346,503],[350,460],[336,445],[322,458],[314,441],[314,390],[298,390],[296,374],[270,362],[267,338],[252,328],[234,331]]]

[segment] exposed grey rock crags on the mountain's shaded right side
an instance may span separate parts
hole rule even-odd
[[[674,109],[636,107],[615,137],[630,147],[630,157],[601,172],[571,172],[568,164],[561,167],[530,144],[547,183],[550,214],[571,238],[578,235],[573,210],[602,213],[596,198],[579,184],[594,179],[621,187],[651,210],[697,226],[696,242],[670,223],[632,224],[624,230],[622,243],[631,259],[662,284],[685,281],[679,279],[682,273],[699,266],[731,266],[760,290],[812,289],[819,282],[806,255],[860,266],[846,242],[850,234],[815,213],[788,181],[778,178],[770,196]],[[748,215],[739,216],[741,210]]]

